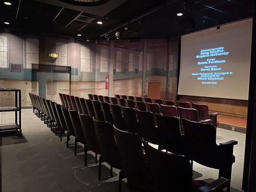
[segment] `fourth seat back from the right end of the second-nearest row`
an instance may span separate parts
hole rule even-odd
[[[126,130],[141,135],[135,108],[122,107],[122,114]]]

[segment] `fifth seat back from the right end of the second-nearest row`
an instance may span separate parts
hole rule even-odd
[[[126,127],[125,127],[125,123],[122,117],[122,109],[120,105],[113,105],[110,104],[110,108],[111,108],[111,113],[112,113],[112,117],[114,120],[114,124],[115,127],[125,131]]]

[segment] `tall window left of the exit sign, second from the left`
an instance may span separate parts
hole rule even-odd
[[[38,64],[38,39],[28,38],[26,39],[25,49],[25,68],[31,69],[32,63]]]

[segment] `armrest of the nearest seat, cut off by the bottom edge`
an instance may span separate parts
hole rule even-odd
[[[230,187],[230,180],[220,177],[218,180],[215,180],[204,187],[198,189],[199,192],[219,192],[226,187]]]

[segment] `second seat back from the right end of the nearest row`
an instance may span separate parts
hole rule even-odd
[[[122,163],[122,170],[129,184],[136,188],[150,188],[148,171],[143,157],[141,139],[131,132],[124,132],[114,127],[117,146]]]

